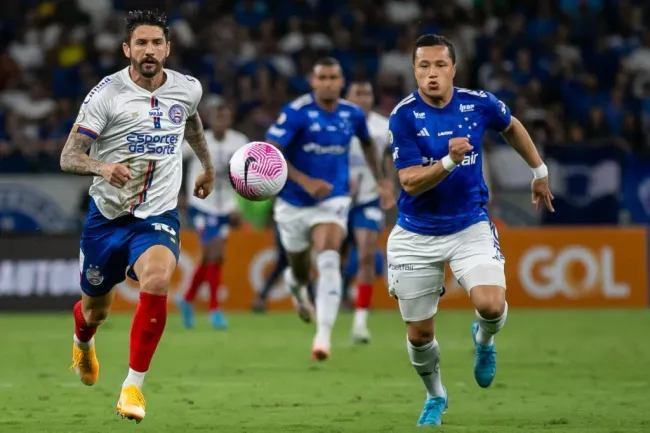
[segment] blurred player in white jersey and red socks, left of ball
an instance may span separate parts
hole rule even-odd
[[[221,285],[225,241],[230,226],[236,226],[240,220],[235,191],[228,177],[229,163],[237,149],[249,140],[241,132],[230,128],[232,111],[229,107],[215,101],[208,106],[208,110],[210,131],[207,131],[205,138],[216,169],[217,183],[207,199],[201,200],[192,196],[194,178],[201,173],[203,167],[201,161],[187,149],[183,157],[189,158],[189,176],[186,180],[188,211],[192,225],[201,238],[203,260],[196,267],[189,288],[184,294],[176,297],[176,302],[181,310],[183,325],[193,328],[194,298],[203,282],[207,282],[210,288],[210,323],[216,329],[226,329],[228,324],[219,308],[218,291]]]

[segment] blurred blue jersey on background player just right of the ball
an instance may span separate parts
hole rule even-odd
[[[316,104],[312,94],[306,94],[282,109],[266,139],[282,147],[285,159],[296,170],[332,184],[327,199],[349,194],[348,152],[355,135],[360,140],[369,137],[366,115],[361,108],[339,99],[336,110],[325,111]],[[318,202],[291,179],[279,196],[299,207]]]

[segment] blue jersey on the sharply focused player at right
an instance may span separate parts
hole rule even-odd
[[[402,191],[397,224],[421,235],[440,236],[487,221],[489,193],[483,179],[481,141],[488,129],[506,129],[510,117],[503,102],[480,90],[454,88],[443,108],[425,103],[418,92],[397,104],[389,121],[397,170],[434,164],[449,153],[449,140],[454,137],[467,137],[474,147],[436,187],[414,196]]]

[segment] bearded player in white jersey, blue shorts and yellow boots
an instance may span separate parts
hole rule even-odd
[[[125,274],[139,281],[129,372],[117,412],[140,422],[145,416],[144,376],[165,328],[167,290],[179,255],[176,205],[183,140],[203,166],[194,184],[196,197],[210,194],[215,173],[197,113],[201,84],[163,69],[170,49],[166,16],[129,12],[126,30],[122,49],[130,65],[105,77],[86,96],[62,151],[61,168],[95,176],[81,236],[82,293],[73,310],[72,369],[85,385],[97,381],[93,336],[108,315],[113,287]]]

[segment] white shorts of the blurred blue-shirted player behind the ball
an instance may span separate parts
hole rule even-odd
[[[311,229],[318,224],[334,223],[347,234],[350,197],[333,197],[316,206],[298,207],[278,198],[273,218],[278,226],[280,242],[285,250],[298,253],[309,249]]]

